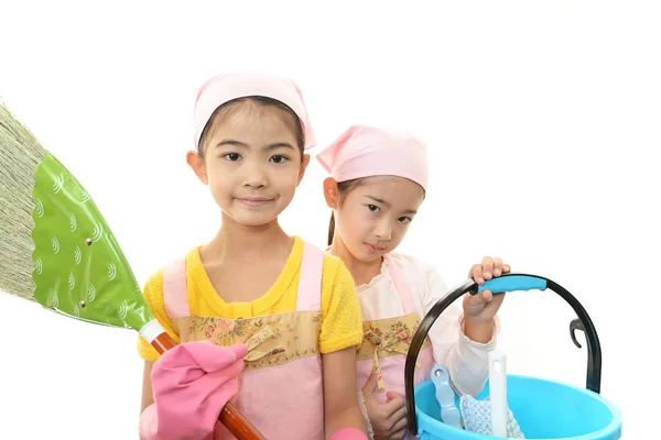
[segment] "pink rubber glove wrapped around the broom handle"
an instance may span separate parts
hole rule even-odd
[[[197,440],[214,432],[218,416],[239,391],[245,344],[186,342],[154,363],[154,404],[140,417],[144,440]]]

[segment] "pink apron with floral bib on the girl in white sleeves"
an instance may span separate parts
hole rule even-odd
[[[357,382],[358,389],[362,389],[372,370],[377,373],[379,389],[377,398],[386,402],[386,393],[398,393],[402,397],[404,392],[404,364],[411,339],[420,326],[421,317],[415,310],[411,292],[405,279],[390,255],[383,255],[388,264],[394,288],[402,301],[404,315],[400,317],[378,319],[362,322],[362,344],[358,351]],[[427,380],[434,367],[432,344],[425,340],[418,355],[415,369],[415,384]],[[407,439],[412,439],[407,433]]]

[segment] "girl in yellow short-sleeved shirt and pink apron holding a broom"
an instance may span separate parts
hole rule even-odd
[[[198,92],[194,124],[187,162],[223,224],[144,288],[178,345],[159,358],[139,339],[142,438],[230,439],[217,418],[231,402],[267,439],[366,439],[350,273],[278,224],[314,145],[301,91],[270,75],[217,76]]]

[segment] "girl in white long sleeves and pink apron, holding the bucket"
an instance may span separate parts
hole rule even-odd
[[[329,173],[324,195],[333,209],[328,244],[358,286],[364,341],[357,385],[370,438],[402,439],[404,362],[422,317],[447,292],[438,272],[409,255],[392,253],[404,238],[427,187],[426,146],[408,133],[349,128],[317,160]],[[508,272],[485,257],[469,276],[478,284]],[[415,383],[445,365],[459,392],[477,394],[488,377],[495,348],[496,312],[503,296],[466,296],[463,314],[446,310],[418,358]]]

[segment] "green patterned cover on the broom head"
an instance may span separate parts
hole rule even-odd
[[[35,176],[35,299],[83,321],[140,331],[153,315],[87,190],[48,152]]]

